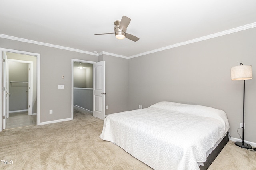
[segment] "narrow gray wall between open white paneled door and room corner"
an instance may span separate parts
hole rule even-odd
[[[106,61],[105,114],[128,110],[128,59],[110,55],[99,56]]]

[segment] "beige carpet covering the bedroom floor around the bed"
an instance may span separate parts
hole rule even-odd
[[[74,111],[72,121],[4,130],[0,132],[0,169],[151,169],[122,148],[101,140],[102,127],[101,119]],[[255,155],[228,142],[209,169],[255,170]]]

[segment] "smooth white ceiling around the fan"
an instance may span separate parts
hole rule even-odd
[[[1,0],[5,35],[72,49],[132,57],[248,24],[256,26],[256,0]],[[131,18],[118,40],[114,21]]]

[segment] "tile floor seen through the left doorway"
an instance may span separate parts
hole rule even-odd
[[[28,112],[9,113],[6,120],[6,129],[36,125],[36,115],[28,115]]]

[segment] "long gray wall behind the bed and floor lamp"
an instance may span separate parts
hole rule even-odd
[[[246,81],[244,140],[256,142],[255,45],[256,28],[252,28],[129,59],[129,110],[159,101],[222,109],[232,137],[239,138],[243,81],[232,81],[230,69],[241,62],[252,65],[254,76]]]

